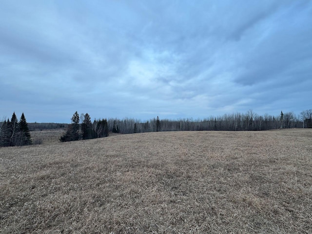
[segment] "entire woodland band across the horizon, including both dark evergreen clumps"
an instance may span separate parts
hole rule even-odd
[[[0,147],[32,144],[31,131],[65,129],[60,141],[73,141],[108,137],[109,133],[133,134],[164,131],[263,131],[285,128],[312,128],[312,109],[300,115],[281,112],[277,116],[257,115],[253,110],[245,114],[225,114],[205,119],[160,119],[159,117],[142,122],[133,118],[94,119],[88,114],[75,112],[71,124],[66,123],[27,123],[24,114],[20,120],[13,113],[11,120],[0,122]]]

